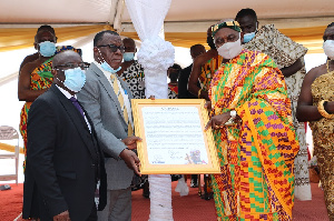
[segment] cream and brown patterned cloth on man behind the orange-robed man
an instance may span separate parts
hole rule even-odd
[[[294,127],[299,141],[299,152],[295,159],[295,197],[298,200],[311,200],[311,183],[308,175],[308,153],[305,134],[305,124],[298,122],[296,118],[297,101],[302,89],[302,83],[306,74],[304,56],[307,49],[296,43],[291,38],[281,33],[274,24],[263,26],[255,37],[244,44],[245,49],[261,51],[268,54],[282,69],[292,66],[301,59],[303,68],[291,77],[285,78],[287,94],[292,101],[292,115]]]

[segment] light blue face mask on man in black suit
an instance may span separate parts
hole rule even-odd
[[[65,81],[60,81],[63,83],[66,88],[73,92],[79,92],[85,83],[86,83],[86,73],[79,67],[75,69],[67,69],[65,72]]]

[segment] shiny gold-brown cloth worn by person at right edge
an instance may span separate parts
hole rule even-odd
[[[316,78],[311,86],[313,106],[322,100],[334,101],[334,71]],[[330,220],[334,220],[334,119],[311,121],[314,154],[320,168]]]

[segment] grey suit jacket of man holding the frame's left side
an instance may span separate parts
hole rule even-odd
[[[118,80],[131,99],[127,83],[120,78]],[[109,157],[106,157],[108,189],[129,188],[134,171],[119,158],[119,153],[127,148],[120,139],[128,137],[128,125],[110,82],[95,63],[86,71],[86,83],[78,99],[94,122],[100,147]]]

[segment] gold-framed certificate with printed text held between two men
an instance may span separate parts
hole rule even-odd
[[[204,99],[132,99],[143,174],[220,173]]]

